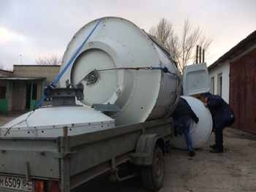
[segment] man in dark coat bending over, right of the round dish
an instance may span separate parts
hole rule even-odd
[[[235,115],[230,105],[227,104],[221,96],[211,93],[201,94],[204,96],[204,105],[211,112],[214,123],[215,144],[211,145],[211,153],[223,153],[223,128],[230,126],[235,122]]]

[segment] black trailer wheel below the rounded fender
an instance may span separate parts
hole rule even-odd
[[[145,188],[158,191],[164,183],[165,162],[162,150],[156,146],[154,149],[153,163],[151,166],[141,167],[141,179]]]

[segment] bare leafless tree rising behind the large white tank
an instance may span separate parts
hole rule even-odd
[[[212,41],[203,34],[199,26],[194,27],[188,19],[184,20],[180,36],[174,33],[173,26],[165,18],[162,18],[156,27],[152,27],[149,33],[170,50],[170,55],[177,62],[181,72],[187,64],[195,63],[195,46],[200,45],[206,53]]]

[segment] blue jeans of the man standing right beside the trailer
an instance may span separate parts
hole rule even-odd
[[[189,116],[182,116],[178,118],[174,118],[174,129],[176,130],[178,127],[183,126],[183,131],[187,141],[187,149],[189,151],[193,151],[192,139],[190,136],[189,128],[190,128],[190,120]]]

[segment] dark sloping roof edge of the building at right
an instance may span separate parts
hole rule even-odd
[[[241,40],[241,42],[238,42],[238,44],[231,48],[227,53],[222,55],[220,58],[218,58],[217,61],[214,62],[214,64],[211,64],[211,66],[208,66],[208,70],[214,68],[214,66],[217,66],[221,62],[235,58],[237,55],[244,52],[244,50],[248,49],[249,47],[252,47],[252,45],[255,45],[256,43],[256,31],[253,31],[252,34],[249,34],[245,39]]]

